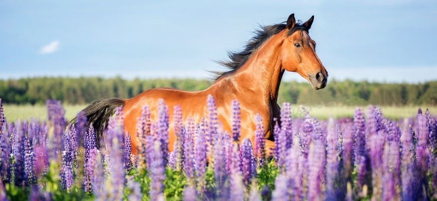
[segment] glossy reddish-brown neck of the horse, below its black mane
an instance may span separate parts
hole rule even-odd
[[[276,103],[279,85],[284,73],[279,59],[280,46],[286,32],[270,37],[259,47],[243,66],[220,81],[229,81],[238,92],[263,94],[264,98]]]

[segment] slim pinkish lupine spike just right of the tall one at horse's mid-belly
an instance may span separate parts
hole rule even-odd
[[[174,131],[174,146],[173,146],[173,152],[175,157],[175,168],[176,170],[181,169],[182,165],[182,129],[183,129],[183,122],[182,122],[182,109],[179,105],[175,106],[173,108],[173,131]]]

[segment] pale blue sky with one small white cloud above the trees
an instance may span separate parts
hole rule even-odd
[[[314,15],[331,78],[437,80],[437,1],[0,1],[0,79],[208,78],[259,25]],[[285,80],[304,81],[293,72]]]

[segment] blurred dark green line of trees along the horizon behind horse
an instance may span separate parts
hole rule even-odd
[[[0,98],[6,104],[44,104],[48,98],[64,104],[89,104],[95,100],[133,97],[155,87],[188,91],[207,88],[212,82],[196,79],[132,79],[121,77],[36,77],[0,80]],[[309,83],[282,81],[278,102],[302,105],[437,105],[437,81],[418,84],[329,80],[324,89]]]

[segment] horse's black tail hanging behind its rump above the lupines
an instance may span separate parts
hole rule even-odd
[[[103,137],[103,131],[107,128],[107,123],[111,116],[114,115],[116,108],[124,107],[125,101],[120,98],[108,98],[104,100],[97,100],[90,104],[82,111],[88,120],[86,127],[89,128],[92,123],[94,127],[97,147],[100,147],[100,140]],[[75,123],[76,118],[70,123]]]

